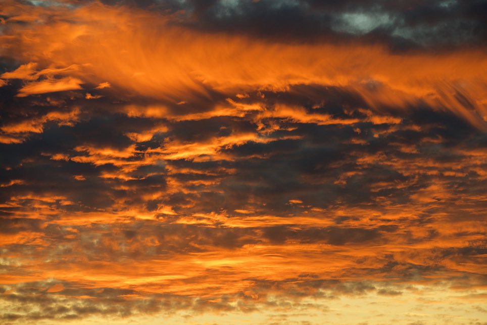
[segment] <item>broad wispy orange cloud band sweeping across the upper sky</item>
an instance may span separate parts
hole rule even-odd
[[[481,51],[397,56],[372,45],[285,44],[205,34],[169,25],[171,16],[124,7],[92,4],[58,10],[73,23],[51,18],[12,27],[12,33],[24,37],[8,53],[35,62],[47,58],[54,66],[76,65],[82,67],[76,78],[84,82],[108,80],[103,82],[174,103],[208,98],[206,87],[230,95],[314,83],[349,87],[376,108],[406,109],[425,102],[486,128],[487,80],[481,71],[487,60]],[[33,14],[44,17],[45,11],[36,8]],[[16,73],[30,78],[29,69]],[[20,96],[47,88],[79,89],[81,83],[34,84]]]

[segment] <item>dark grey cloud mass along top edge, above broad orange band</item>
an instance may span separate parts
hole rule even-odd
[[[170,12],[182,25],[272,40],[383,43],[394,51],[484,46],[485,1],[104,1]]]

